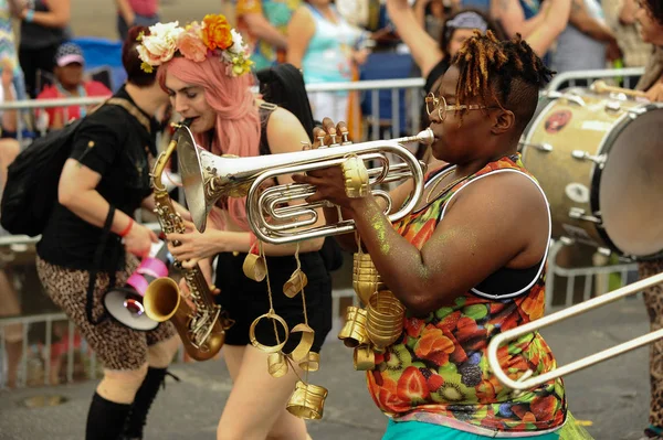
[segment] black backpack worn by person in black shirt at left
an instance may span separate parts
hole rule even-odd
[[[0,224],[10,234],[42,233],[57,200],[57,185],[83,119],[35,139],[9,165]]]

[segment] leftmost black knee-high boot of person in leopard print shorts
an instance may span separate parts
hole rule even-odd
[[[129,414],[129,404],[116,404],[94,394],[90,411],[85,440],[117,440],[122,434],[122,427]]]

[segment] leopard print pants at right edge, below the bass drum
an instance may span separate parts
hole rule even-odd
[[[642,261],[639,265],[640,279],[663,272],[663,259]],[[645,289],[644,304],[650,316],[651,331],[663,328],[663,285]],[[650,404],[650,423],[663,427],[663,340],[650,348],[650,380],[652,396]]]

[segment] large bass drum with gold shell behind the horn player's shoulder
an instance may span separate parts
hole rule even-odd
[[[520,151],[550,203],[552,237],[662,257],[662,105],[588,89],[544,97]]]

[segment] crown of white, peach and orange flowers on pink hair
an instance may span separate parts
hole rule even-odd
[[[193,21],[181,28],[179,22],[157,23],[149,26],[149,35],[138,35],[140,68],[147,73],[161,65],[179,52],[187,60],[201,63],[208,56],[217,56],[227,64],[227,74],[240,76],[251,71],[249,49],[242,35],[221,14],[208,14],[202,23]]]

